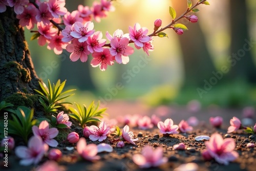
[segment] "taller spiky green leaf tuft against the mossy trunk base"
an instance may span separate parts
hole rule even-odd
[[[58,80],[56,84],[53,83],[53,86],[51,85],[50,80],[48,80],[48,87],[45,83],[39,82],[40,88],[42,91],[35,90],[39,96],[39,102],[44,107],[44,110],[46,113],[54,113],[57,112],[57,109],[61,107],[60,104],[72,104],[70,102],[59,102],[62,99],[65,99],[69,96],[72,96],[74,94],[70,94],[67,96],[64,96],[72,91],[75,91],[76,89],[67,90],[65,92],[63,91],[63,88],[65,87],[66,80],[63,82],[60,82]]]

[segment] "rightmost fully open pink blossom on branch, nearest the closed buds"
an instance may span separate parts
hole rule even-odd
[[[140,24],[136,23],[134,25],[134,28],[132,28],[131,26],[129,26],[129,32],[130,32],[130,37],[131,40],[134,41],[134,44],[137,45],[138,47],[143,47],[143,42],[147,42],[150,41],[150,37],[147,36],[147,32],[148,30],[143,27],[140,27]]]

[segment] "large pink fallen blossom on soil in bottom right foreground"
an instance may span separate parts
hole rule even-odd
[[[209,155],[218,163],[227,165],[229,161],[238,158],[238,153],[234,151],[236,142],[232,138],[223,140],[218,133],[212,134],[210,140],[205,142]]]

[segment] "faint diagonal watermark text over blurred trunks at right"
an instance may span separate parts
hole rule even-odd
[[[245,56],[246,52],[250,51],[252,47],[256,44],[256,41],[245,39],[245,43],[241,49],[239,49],[236,53],[232,53],[227,57],[227,63],[230,64],[230,67],[234,67],[238,61]],[[209,79],[204,79],[203,88],[197,88],[197,93],[200,98],[203,98],[203,94],[207,94],[213,86],[215,86],[224,76],[224,74],[228,73],[230,68],[226,65],[223,65],[219,71],[212,71],[212,77]]]

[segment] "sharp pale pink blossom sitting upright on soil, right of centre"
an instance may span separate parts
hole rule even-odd
[[[160,121],[157,124],[157,127],[160,129],[160,133],[162,134],[178,134],[178,125],[174,125],[174,121],[172,119],[166,119],[164,122]]]

